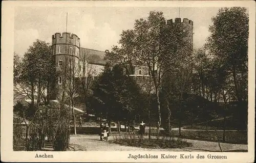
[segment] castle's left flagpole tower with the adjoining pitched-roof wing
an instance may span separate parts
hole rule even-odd
[[[98,76],[104,69],[105,52],[80,47],[80,38],[71,33],[55,33],[52,35],[52,60],[56,65],[57,81],[50,86],[50,99],[55,100],[63,92],[65,78],[69,74],[77,77]],[[146,66],[133,65],[131,76],[149,76]],[[65,75],[66,74],[66,75]],[[66,84],[67,85],[67,84]],[[57,90],[57,91],[54,91]]]

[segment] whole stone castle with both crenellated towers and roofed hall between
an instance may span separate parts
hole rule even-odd
[[[178,53],[192,54],[193,21],[185,18],[183,22],[181,18],[175,18],[174,22],[172,19],[167,20],[163,23],[164,34],[166,34],[166,31],[167,33],[168,31],[175,33],[177,38],[186,43],[186,45],[178,46]],[[51,99],[56,99],[63,92],[63,85],[67,82],[63,75],[66,74],[67,76],[69,73],[73,73],[75,77],[81,77],[81,74],[83,74],[82,77],[87,77],[88,74],[92,76],[99,75],[106,64],[104,56],[104,51],[80,47],[80,38],[75,34],[55,33],[52,35],[52,60],[56,64],[58,77],[51,89],[56,89],[57,87],[58,91],[52,95]],[[151,76],[147,66],[134,63],[130,69],[132,69],[132,74],[129,73],[130,76],[135,76],[135,78]]]

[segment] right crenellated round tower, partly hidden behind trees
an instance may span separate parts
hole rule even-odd
[[[161,39],[165,39],[163,43],[167,45],[166,47],[172,48],[165,49],[166,55],[170,53],[170,57],[176,56],[182,60],[181,63],[176,65],[169,64],[168,62],[164,65],[168,72],[165,73],[162,88],[167,92],[173,92],[175,86],[173,86],[173,82],[170,82],[170,79],[177,79],[178,75],[183,74],[182,69],[189,67],[189,64],[191,64],[188,56],[193,55],[193,21],[186,18],[183,21],[181,18],[175,18],[174,21],[169,19],[162,23],[161,29]],[[178,68],[177,66],[181,67]]]

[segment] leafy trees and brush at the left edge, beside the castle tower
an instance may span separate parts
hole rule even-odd
[[[51,53],[49,43],[36,40],[28,48],[23,59],[14,55],[14,90],[18,94],[25,94],[26,98],[31,100],[31,102],[25,102],[25,100],[17,102],[14,105],[14,115],[21,118],[26,125],[26,150],[42,150],[45,146],[46,136],[52,141],[56,131],[53,127],[56,121],[51,117],[52,108],[49,105],[49,97],[56,91],[49,90],[49,87],[54,85],[57,77]],[[59,114],[55,114],[55,116],[58,117]],[[63,119],[69,120],[69,117],[63,116]],[[69,127],[69,123],[57,122]],[[64,127],[62,126],[62,128]],[[14,133],[16,134],[16,132]],[[57,135],[55,134],[56,138]],[[14,137],[18,137],[18,132]],[[61,133],[61,137],[69,137],[69,134]],[[69,141],[69,138],[65,140]]]

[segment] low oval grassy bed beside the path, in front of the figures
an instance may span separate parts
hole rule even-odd
[[[112,142],[141,148],[185,148],[191,146],[191,143],[186,142],[182,138],[167,138],[167,137],[152,137],[150,140],[139,138],[137,135],[113,135]]]

